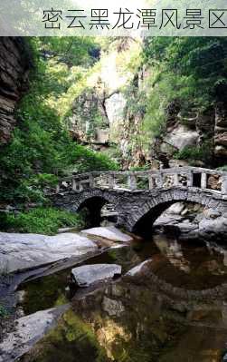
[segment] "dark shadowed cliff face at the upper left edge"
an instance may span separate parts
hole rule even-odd
[[[16,104],[26,90],[31,58],[20,37],[0,38],[0,144],[9,141]]]

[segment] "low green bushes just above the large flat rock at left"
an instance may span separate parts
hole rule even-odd
[[[84,226],[80,214],[54,208],[36,208],[17,214],[6,214],[5,231],[31,232],[54,235],[57,230],[65,227],[81,229]]]

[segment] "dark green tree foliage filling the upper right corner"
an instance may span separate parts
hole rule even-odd
[[[183,106],[195,103],[204,110],[219,98],[218,84],[226,83],[226,49],[224,37],[147,38],[145,59],[159,70],[161,79],[168,74],[175,78],[172,91]]]

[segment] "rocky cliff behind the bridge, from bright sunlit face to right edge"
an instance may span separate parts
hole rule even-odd
[[[100,145],[118,159],[122,169],[188,163],[225,166],[227,85],[214,82],[218,71],[211,83],[208,68],[204,77],[210,88],[197,93],[200,74],[194,75],[194,67],[187,74],[194,82],[184,83],[185,75],[168,68],[166,59],[157,61],[151,52],[145,62],[145,52],[146,44],[132,39],[123,43],[118,39],[102,49],[99,64],[74,100],[69,119],[72,136],[96,150]],[[198,52],[203,53],[203,44]]]

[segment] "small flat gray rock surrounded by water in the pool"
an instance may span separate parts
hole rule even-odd
[[[117,264],[83,265],[71,270],[72,278],[79,287],[89,287],[97,281],[112,279],[121,274],[121,266]]]

